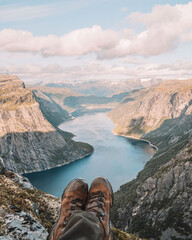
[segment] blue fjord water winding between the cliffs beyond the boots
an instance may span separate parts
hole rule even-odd
[[[147,143],[113,135],[114,125],[106,113],[84,115],[61,124],[60,129],[76,135],[94,147],[94,153],[84,159],[43,172],[26,174],[32,184],[60,197],[74,178],[84,178],[90,184],[95,177],[107,177],[114,191],[133,178],[154,154]]]

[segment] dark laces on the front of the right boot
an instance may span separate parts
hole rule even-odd
[[[100,221],[103,222],[103,218],[105,216],[105,210],[103,209],[103,207],[105,207],[105,196],[103,192],[102,191],[93,192],[89,197],[89,202],[86,211],[95,212]]]

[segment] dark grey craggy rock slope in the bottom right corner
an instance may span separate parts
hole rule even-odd
[[[147,239],[192,238],[192,140],[136,188],[115,224]],[[121,189],[122,190],[122,189]]]

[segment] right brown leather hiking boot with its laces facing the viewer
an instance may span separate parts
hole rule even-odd
[[[87,212],[94,213],[104,230],[104,240],[111,240],[110,210],[113,204],[113,189],[110,182],[103,177],[95,178],[91,184],[85,207]]]

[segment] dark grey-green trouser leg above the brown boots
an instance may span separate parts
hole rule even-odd
[[[74,211],[59,240],[103,240],[99,219],[90,212]]]

